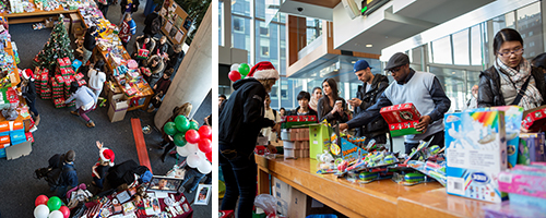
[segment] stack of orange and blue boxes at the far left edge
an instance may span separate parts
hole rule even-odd
[[[21,120],[0,122],[0,158],[5,158],[5,147],[26,142],[24,129]]]

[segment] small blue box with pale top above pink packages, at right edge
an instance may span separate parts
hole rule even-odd
[[[518,164],[530,165],[531,162],[546,161],[544,133],[521,133],[520,149],[518,150]]]

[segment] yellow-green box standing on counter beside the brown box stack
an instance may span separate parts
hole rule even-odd
[[[330,140],[330,126],[325,123],[309,125],[309,156],[312,159],[322,154],[329,147],[325,142]]]

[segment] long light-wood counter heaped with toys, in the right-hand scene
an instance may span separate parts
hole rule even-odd
[[[483,217],[489,203],[449,195],[437,182],[404,186],[392,180],[358,184],[318,174],[309,158],[268,159],[256,155],[259,193],[269,193],[269,174],[347,217]]]

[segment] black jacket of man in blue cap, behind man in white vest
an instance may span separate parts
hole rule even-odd
[[[373,76],[373,81],[371,81],[371,89],[366,93],[367,86],[368,83],[364,83],[364,86],[358,86],[356,98],[360,99],[363,102],[359,107],[355,108],[355,117],[369,107],[376,105],[379,96],[381,96],[381,94],[383,94],[383,90],[389,87],[389,78],[384,75],[377,74]],[[356,132],[356,135],[359,137],[375,137],[379,134],[389,132],[389,125],[384,121],[383,117],[379,116],[375,120],[366,124],[366,126],[357,128]]]

